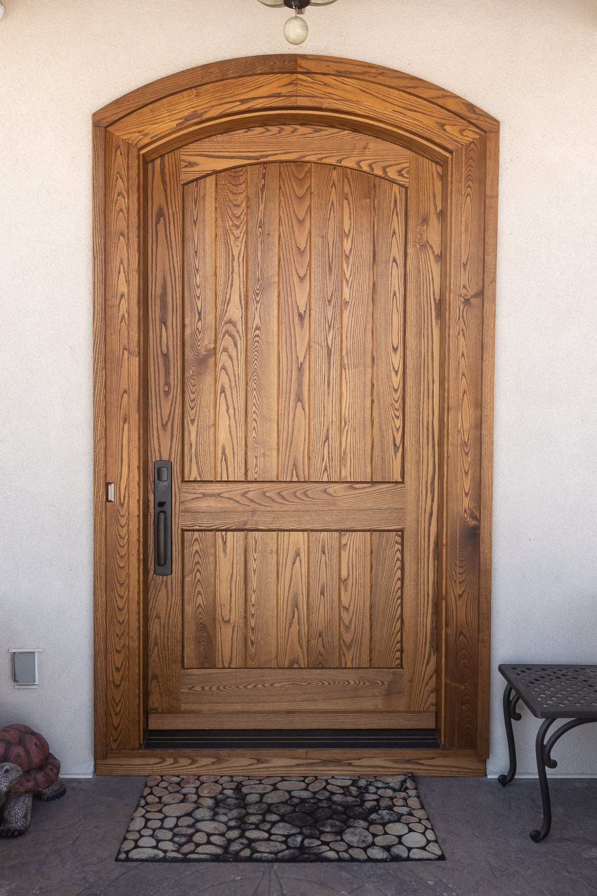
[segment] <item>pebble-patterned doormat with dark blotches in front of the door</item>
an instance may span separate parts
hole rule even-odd
[[[443,858],[412,775],[151,775],[116,861]]]

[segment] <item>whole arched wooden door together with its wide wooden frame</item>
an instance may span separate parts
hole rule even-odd
[[[148,727],[438,728],[417,761],[482,770],[495,125],[309,61],[98,113],[106,771],[173,761]]]

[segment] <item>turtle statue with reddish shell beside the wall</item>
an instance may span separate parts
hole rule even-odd
[[[47,740],[27,725],[0,728],[0,837],[20,837],[29,829],[33,797],[64,797],[60,762]]]

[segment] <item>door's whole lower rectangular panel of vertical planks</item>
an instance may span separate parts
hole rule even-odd
[[[184,532],[185,667],[400,668],[402,543],[401,531]]]

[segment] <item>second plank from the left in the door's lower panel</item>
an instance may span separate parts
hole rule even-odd
[[[244,532],[216,532],[216,668],[244,666]]]

